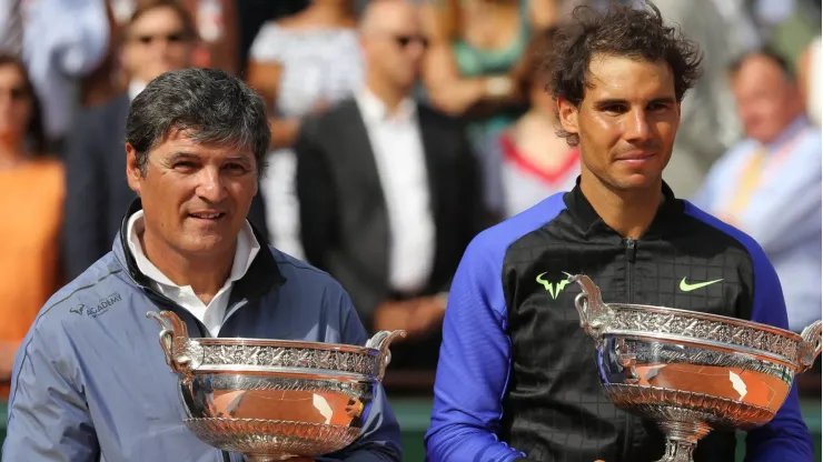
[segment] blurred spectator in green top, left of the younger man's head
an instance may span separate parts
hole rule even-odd
[[[478,143],[523,113],[512,69],[532,29],[552,26],[559,0],[440,0],[424,7],[432,39],[424,82],[433,104],[473,119]]]

